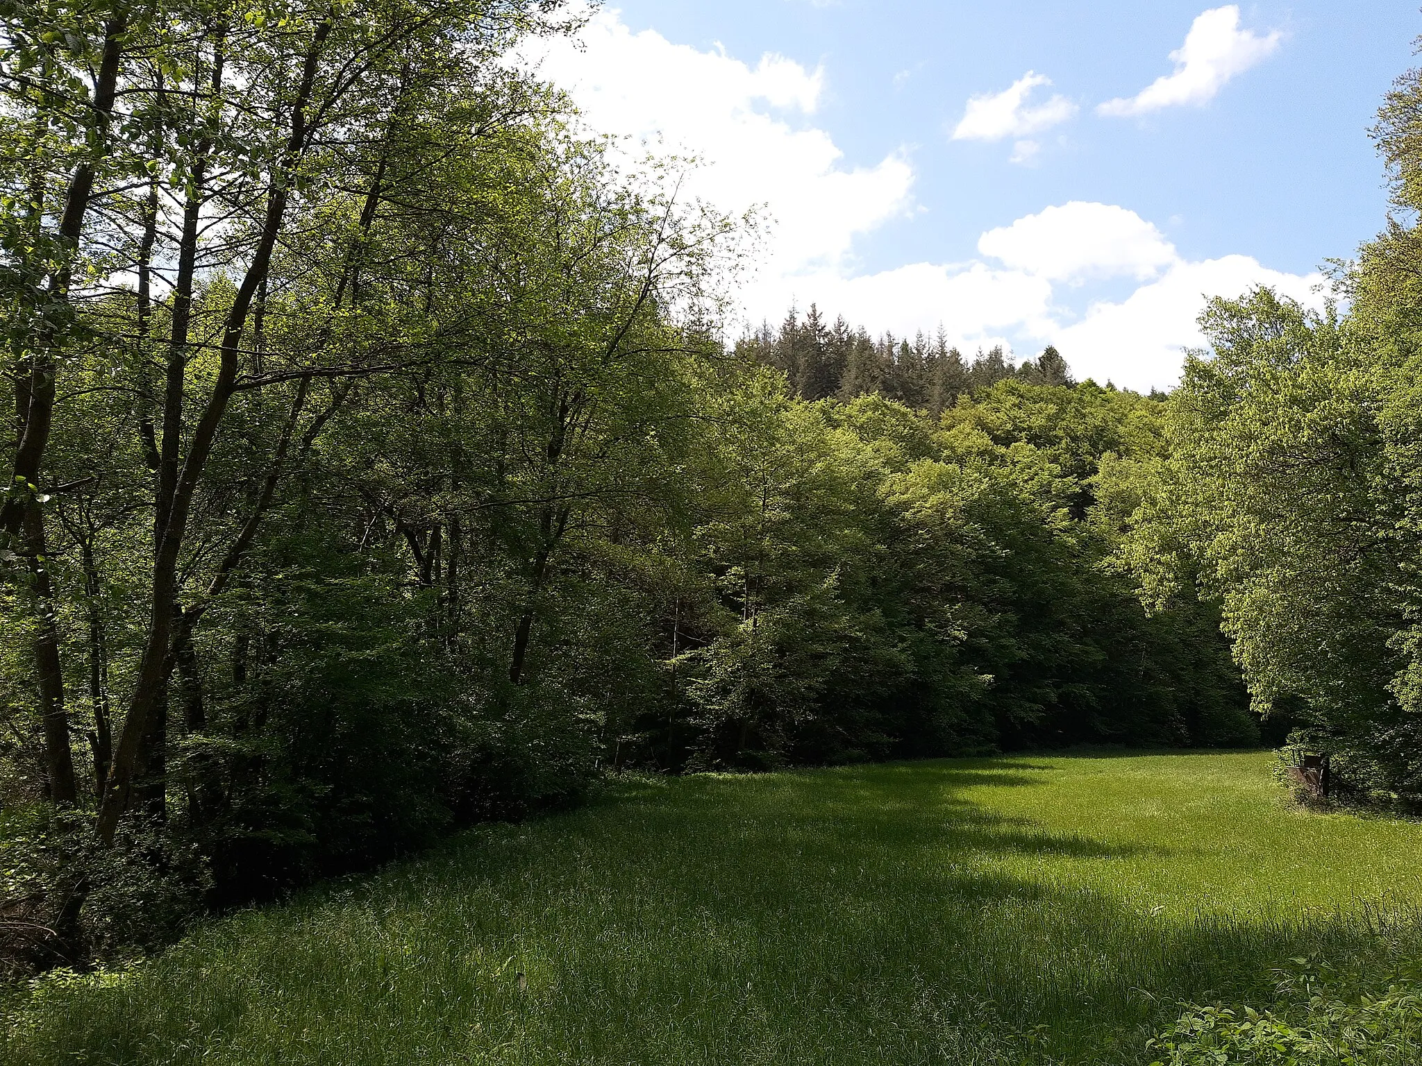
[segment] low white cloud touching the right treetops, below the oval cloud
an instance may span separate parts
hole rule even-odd
[[[1322,280],[1321,274],[1270,270],[1249,256],[1177,263],[1126,300],[1095,304],[1079,323],[1057,330],[1051,341],[1078,378],[1165,389],[1179,379],[1185,350],[1206,347],[1194,320],[1210,297],[1237,297],[1268,286],[1318,307],[1322,297],[1313,290]]]

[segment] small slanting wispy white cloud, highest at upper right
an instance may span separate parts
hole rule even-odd
[[[1096,111],[1129,117],[1182,104],[1204,104],[1236,74],[1270,55],[1281,38],[1278,30],[1263,37],[1240,30],[1240,9],[1236,4],[1213,7],[1196,17],[1185,44],[1170,53],[1175,74],[1156,78],[1135,97],[1109,99]]]

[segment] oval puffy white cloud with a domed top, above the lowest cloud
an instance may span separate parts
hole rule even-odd
[[[1145,280],[1179,260],[1175,246],[1133,210],[1072,200],[988,230],[978,252],[1051,281]]]

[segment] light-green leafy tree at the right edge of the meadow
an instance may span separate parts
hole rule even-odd
[[[1172,453],[1126,554],[1162,603],[1196,583],[1220,601],[1257,711],[1335,756],[1344,790],[1415,803],[1415,404],[1361,313],[1267,291],[1212,307],[1216,355],[1172,397]]]

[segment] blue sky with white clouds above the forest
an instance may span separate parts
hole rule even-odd
[[[1386,216],[1419,0],[620,0],[530,57],[766,219],[737,331],[816,304],[1169,388],[1210,296],[1310,304]]]

